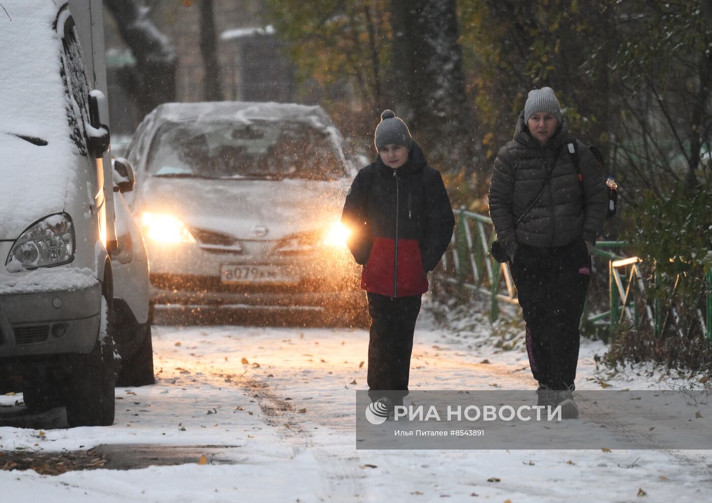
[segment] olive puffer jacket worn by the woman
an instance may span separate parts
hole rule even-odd
[[[520,114],[514,139],[500,149],[489,189],[490,216],[501,245],[513,256],[518,244],[554,248],[585,239],[595,243],[606,216],[603,171],[584,144],[577,142],[580,176],[566,144],[564,117],[544,146],[534,139]],[[551,176],[539,200],[515,226]]]

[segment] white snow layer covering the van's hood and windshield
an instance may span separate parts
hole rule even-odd
[[[60,74],[62,44],[53,28],[66,1],[1,3],[0,239],[13,239],[34,221],[63,210],[75,146]]]

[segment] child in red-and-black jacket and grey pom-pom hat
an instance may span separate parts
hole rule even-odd
[[[450,243],[455,219],[440,173],[394,112],[375,131],[378,156],[361,169],[346,196],[342,222],[363,265],[361,287],[371,317],[368,387],[392,411],[408,394],[410,357],[426,273]]]

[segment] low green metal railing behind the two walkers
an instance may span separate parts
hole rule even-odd
[[[518,305],[509,265],[496,262],[489,253],[496,238],[490,218],[464,209],[454,213],[457,223],[451,247],[441,261],[441,276],[446,282],[456,285],[461,293],[471,290],[488,295],[491,299],[490,318],[494,321],[500,313],[500,301]],[[603,258],[608,263],[609,310],[590,314],[587,302],[582,326],[607,324],[612,335],[625,320],[633,327],[644,321],[659,337],[665,324],[664,318],[673,316],[677,320],[679,315],[675,307],[664,313],[659,300],[647,300],[645,281],[639,270],[642,260],[623,257],[612,251],[623,248],[625,244],[622,241],[596,243],[592,259]],[[656,275],[655,278],[658,282],[659,277]],[[706,316],[701,310],[697,315],[703,334],[712,342],[712,270],[706,275]],[[644,320],[640,319],[641,316]],[[676,325],[679,327],[679,324]]]

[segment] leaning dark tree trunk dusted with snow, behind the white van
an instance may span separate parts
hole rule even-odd
[[[137,0],[104,0],[104,4],[136,59],[135,66],[122,68],[122,88],[144,115],[161,103],[175,101],[177,60],[172,44]]]

